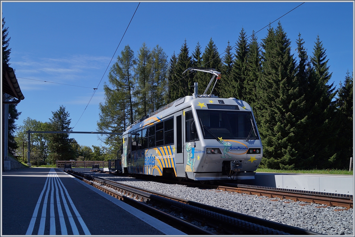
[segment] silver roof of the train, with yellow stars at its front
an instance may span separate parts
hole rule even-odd
[[[128,130],[136,130],[144,128],[154,123],[162,121],[165,117],[174,114],[185,108],[192,107],[193,109],[218,109],[218,110],[239,110],[239,111],[251,111],[251,107],[243,100],[236,98],[219,98],[216,96],[211,97],[197,97],[185,96],[179,98],[170,104],[154,111],[146,117],[135,121],[132,125],[126,128]]]

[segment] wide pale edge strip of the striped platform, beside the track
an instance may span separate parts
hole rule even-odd
[[[71,176],[73,177],[73,176]],[[92,187],[91,185],[78,180],[77,178],[73,177],[76,181],[82,183],[83,185],[85,185],[86,187],[92,189],[94,192],[100,194],[102,197],[110,200],[111,202],[113,202],[114,204],[118,205],[120,208],[128,211],[130,214],[138,217],[138,219],[141,219],[142,221],[146,222],[148,225],[152,226],[153,228],[157,229],[158,231],[162,232],[164,235],[186,235],[186,233],[172,227],[169,226],[168,224],[164,223],[163,221],[160,221],[152,216],[149,216],[148,214],[144,213],[141,210],[138,210],[136,208],[134,208],[133,206],[128,205],[127,203],[122,202],[121,200],[118,200],[112,196],[110,196],[107,193],[104,193],[102,191],[100,191],[97,188]]]

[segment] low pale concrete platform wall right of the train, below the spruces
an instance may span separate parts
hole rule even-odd
[[[242,180],[240,183],[273,188],[354,195],[353,175],[257,172],[255,180]]]

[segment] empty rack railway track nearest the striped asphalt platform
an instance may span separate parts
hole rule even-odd
[[[233,211],[208,206],[186,199],[165,195],[114,182],[105,178],[86,175],[75,171],[66,171],[80,180],[118,198],[149,215],[166,222],[189,235],[320,235],[298,227],[280,224]],[[160,210],[152,206],[160,206]],[[172,211],[184,213],[185,220],[168,215]],[[180,217],[181,218],[181,217]],[[214,228],[215,232],[204,230],[189,222],[198,221]]]

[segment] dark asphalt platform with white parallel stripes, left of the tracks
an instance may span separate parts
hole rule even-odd
[[[185,235],[56,168],[2,172],[2,235]]]

